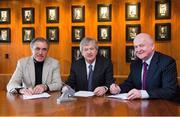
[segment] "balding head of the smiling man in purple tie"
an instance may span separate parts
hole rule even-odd
[[[149,34],[138,34],[134,39],[134,49],[136,56],[146,61],[154,52],[153,39]]]

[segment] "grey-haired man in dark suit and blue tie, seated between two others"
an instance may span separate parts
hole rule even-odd
[[[83,57],[72,63],[66,84],[76,91],[94,91],[97,96],[104,95],[114,83],[111,61],[97,55],[97,42],[89,37],[81,41],[80,51]]]

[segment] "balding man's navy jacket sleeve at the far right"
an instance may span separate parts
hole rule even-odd
[[[176,94],[177,89],[177,69],[174,59],[166,62],[162,68],[162,87],[147,90],[150,98],[171,99]]]

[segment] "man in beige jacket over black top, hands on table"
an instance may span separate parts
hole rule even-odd
[[[44,38],[33,39],[30,43],[32,56],[18,61],[7,91],[23,95],[39,94],[60,90],[62,81],[59,62],[47,57],[49,42]]]

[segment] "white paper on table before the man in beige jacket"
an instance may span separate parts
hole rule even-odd
[[[28,99],[36,99],[36,98],[48,98],[51,95],[49,95],[48,93],[41,93],[41,94],[36,94],[36,95],[23,95],[23,99],[24,100],[28,100]]]

